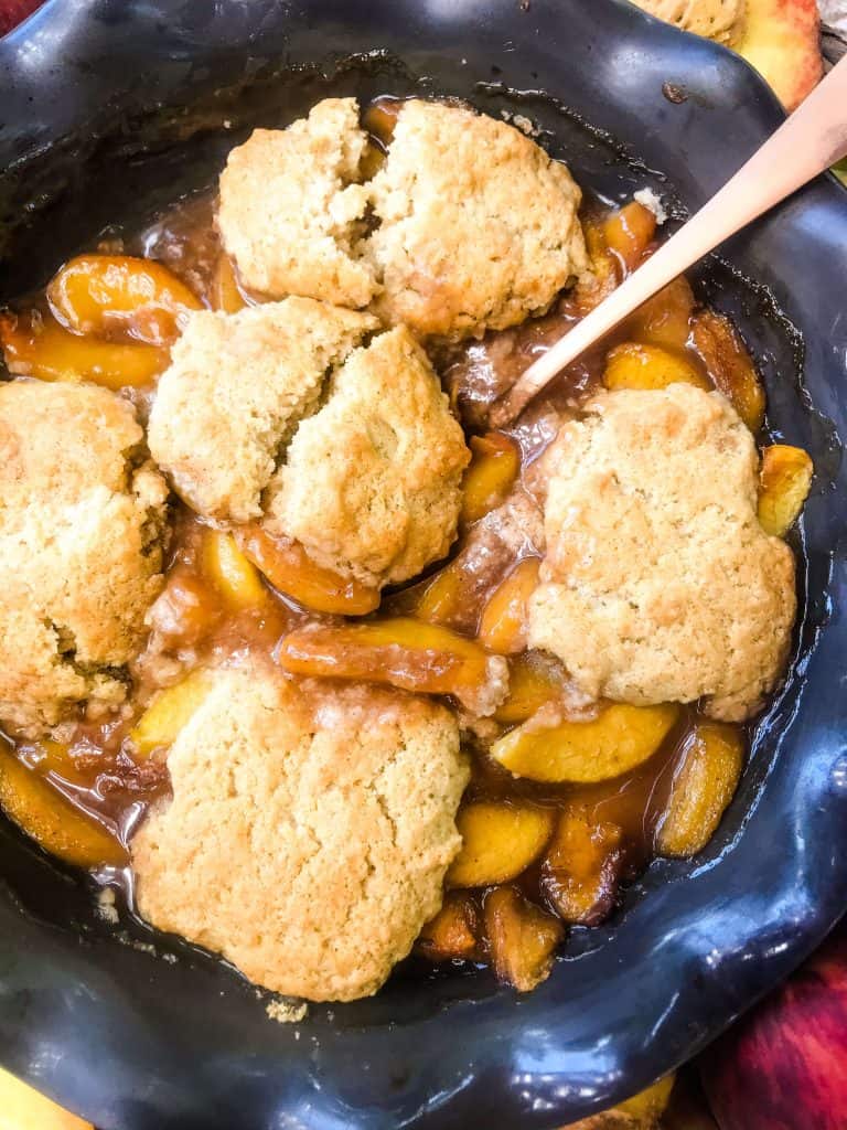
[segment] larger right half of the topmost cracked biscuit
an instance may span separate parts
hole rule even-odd
[[[565,165],[506,122],[403,103],[370,185],[374,308],[421,337],[481,337],[540,313],[587,269],[580,192]]]

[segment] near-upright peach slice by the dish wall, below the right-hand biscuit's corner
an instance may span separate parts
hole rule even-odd
[[[695,855],[711,838],[735,794],[744,764],[744,739],[736,725],[698,722],[689,736],[662,817],[656,850]]]

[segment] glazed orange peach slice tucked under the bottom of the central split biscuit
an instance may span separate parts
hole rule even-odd
[[[248,560],[298,605],[316,612],[364,616],[379,607],[379,590],[341,576],[315,564],[298,541],[271,538],[260,525],[236,531],[236,541]]]

